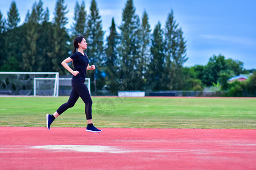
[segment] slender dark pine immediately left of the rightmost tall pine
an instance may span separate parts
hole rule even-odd
[[[160,22],[155,25],[151,40],[151,62],[148,65],[149,80],[148,87],[151,90],[163,90],[165,82],[163,82],[163,62],[164,62],[164,40],[163,30]]]

